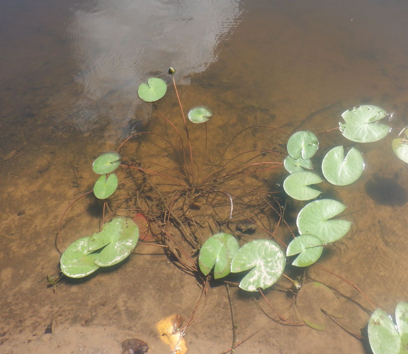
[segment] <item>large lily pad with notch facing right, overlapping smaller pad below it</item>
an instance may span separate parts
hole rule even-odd
[[[306,204],[297,215],[301,235],[315,235],[325,244],[339,240],[350,230],[348,220],[329,220],[343,212],[346,206],[332,199],[315,200]]]

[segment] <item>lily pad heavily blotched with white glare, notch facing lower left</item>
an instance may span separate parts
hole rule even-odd
[[[285,255],[272,240],[254,240],[244,244],[231,262],[231,272],[253,268],[239,283],[241,289],[257,291],[275,284],[285,268]]]

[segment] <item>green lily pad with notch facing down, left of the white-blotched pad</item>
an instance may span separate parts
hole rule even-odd
[[[213,269],[214,278],[222,278],[231,272],[231,260],[239,250],[238,241],[228,233],[216,233],[211,236],[200,249],[198,265],[207,275]]]

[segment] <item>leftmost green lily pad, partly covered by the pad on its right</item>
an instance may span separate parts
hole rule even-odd
[[[71,243],[61,256],[62,273],[71,278],[86,277],[99,268],[95,264],[98,255],[88,251],[91,237],[82,237]]]

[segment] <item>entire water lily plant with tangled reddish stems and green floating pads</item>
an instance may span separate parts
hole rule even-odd
[[[175,70],[170,68],[169,74],[173,75],[174,73]],[[319,197],[321,191],[310,186],[324,182],[324,180],[314,172],[306,170],[313,169],[313,157],[318,150],[319,140],[310,131],[289,134],[283,130],[268,127],[290,136],[286,147],[287,156],[284,156],[282,152],[271,150],[251,150],[221,163],[220,161],[224,158],[232,141],[244,129],[234,136],[224,153],[218,156],[218,162],[214,163],[213,171],[202,177],[202,171],[195,171],[187,121],[174,76],[172,79],[183,117],[188,149],[184,148],[185,141],[174,123],[167,119],[154,103],[166,94],[166,82],[160,78],[151,77],[147,79],[147,84],[140,84],[138,95],[143,101],[153,102],[160,116],[176,132],[180,139],[178,151],[181,150],[182,152],[182,162],[176,168],[156,164],[161,169],[155,171],[146,167],[141,159],[140,161],[136,161],[135,158],[129,159],[128,163],[122,164],[123,158],[120,151],[124,144],[131,138],[140,138],[143,134],[158,136],[161,141],[169,144],[174,151],[177,151],[173,143],[166,137],[150,132],[137,132],[129,136],[116,152],[107,152],[99,156],[93,163],[93,171],[101,176],[95,182],[93,193],[96,198],[104,200],[102,228],[94,235],[82,237],[66,247],[60,259],[61,270],[68,277],[85,277],[95,272],[99,267],[118,264],[132,253],[137,243],[141,243],[140,240],[147,242],[150,238],[155,244],[162,246],[172,259],[176,259],[177,266],[187,273],[199,275],[202,278],[203,292],[210,274],[212,274],[214,279],[225,280],[228,284],[239,286],[246,291],[259,291],[263,296],[262,290],[275,284],[284,275],[288,262],[296,267],[307,267],[314,264],[322,255],[325,245],[340,240],[350,231],[351,222],[338,218],[338,215],[346,209],[346,206],[341,202],[332,199],[313,200],[297,214],[298,235],[295,236],[291,231],[293,239],[286,244],[275,235],[277,226],[272,231],[268,230],[262,223],[254,221],[248,215],[248,210],[268,210],[279,217],[278,226],[281,223],[286,224],[283,217],[284,208],[281,207],[279,198],[275,196],[277,192],[248,188],[238,189],[228,182],[239,178],[248,178],[259,172],[284,165],[289,172],[283,182],[283,189],[287,195],[295,200],[315,199]],[[337,129],[346,139],[355,143],[378,141],[390,132],[388,125],[380,123],[381,119],[388,115],[386,111],[376,106],[359,106],[346,110],[342,114],[344,123],[339,123]],[[188,111],[187,117],[192,123],[204,123],[205,125],[205,160],[207,158],[206,124],[212,117],[212,113],[206,107],[197,106]],[[249,128],[253,127],[246,129]],[[408,163],[407,136],[408,129],[404,128],[392,141],[392,150],[395,155],[406,163]],[[355,182],[364,169],[361,152],[355,147],[351,147],[345,155],[344,150],[342,145],[333,147],[326,153],[319,166],[326,181],[335,186],[345,186]],[[255,156],[233,168],[228,167],[229,170],[227,169],[226,166],[235,162],[236,158],[249,153],[255,153]],[[257,158],[264,156],[272,157],[269,157],[267,161],[257,162]],[[277,162],[277,158],[284,158],[284,160]],[[119,167],[122,169],[120,173],[129,172],[129,181],[137,180],[140,184],[136,189],[128,189],[124,198],[113,202],[108,198],[114,196],[120,184],[126,183],[126,181],[119,183],[118,176],[113,173]],[[137,176],[133,173],[136,173]],[[152,178],[165,180],[166,183],[155,183]],[[144,195],[144,190],[149,191],[149,196]],[[237,193],[242,194],[237,195]],[[213,197],[210,201],[211,195]],[[213,227],[218,227],[219,231],[228,229],[231,233],[213,233],[203,242],[200,229],[205,227],[205,222],[200,219],[198,213],[194,214],[195,211],[202,208],[202,204],[199,202],[202,199],[205,199],[206,205],[210,207]],[[129,200],[136,200],[137,206],[123,208],[122,204],[128,203]],[[249,200],[253,204],[249,203],[248,206]],[[225,209],[225,207],[229,209],[227,218],[219,215],[220,209]],[[109,211],[109,216],[105,217],[106,209]],[[118,213],[124,211],[132,213],[136,211],[139,216],[133,220],[129,217],[117,216]],[[230,227],[233,217],[252,222],[268,233],[268,239],[251,240],[240,246],[240,243],[243,243],[243,238],[234,235]],[[212,229],[209,223],[207,225],[208,228]],[[178,238],[171,231],[175,229],[180,233]],[[245,235],[241,233],[241,236]],[[58,238],[63,245],[60,231],[58,231]],[[186,250],[186,247],[190,247],[190,250]],[[286,252],[282,250],[282,247],[286,248]],[[239,283],[231,281],[229,277],[231,273],[242,272],[246,273]],[[299,283],[293,281],[293,286],[297,288],[295,282]],[[301,284],[299,284],[300,286]],[[297,288],[298,290],[299,288]],[[328,289],[327,291],[330,292]],[[366,299],[368,298],[366,297]],[[279,319],[286,321],[280,317]],[[311,327],[322,329],[305,318],[302,319]],[[407,303],[398,304],[395,321],[396,323],[381,309],[373,312],[368,324],[368,337],[375,354],[406,352],[408,347]],[[190,321],[187,325],[189,323]]]

